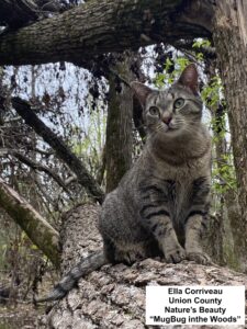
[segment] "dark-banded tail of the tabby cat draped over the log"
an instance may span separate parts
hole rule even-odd
[[[100,269],[106,263],[109,263],[109,261],[106,260],[103,250],[93,252],[87,258],[81,259],[80,262],[54,286],[54,290],[46,297],[35,298],[34,303],[61,299],[72,287],[75,287],[80,277]]]

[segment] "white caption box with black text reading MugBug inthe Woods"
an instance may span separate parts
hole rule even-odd
[[[146,325],[245,325],[245,286],[147,286]]]

